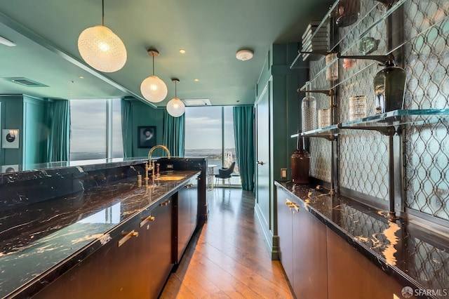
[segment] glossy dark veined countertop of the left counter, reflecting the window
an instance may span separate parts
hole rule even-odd
[[[42,281],[48,284],[79,263],[119,234],[126,222],[175,194],[199,171],[170,174],[185,178],[157,181],[150,188],[145,181],[139,187],[136,177],[126,178],[0,212],[0,297],[18,288],[34,288],[35,293]]]

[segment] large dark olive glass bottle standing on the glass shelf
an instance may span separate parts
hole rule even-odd
[[[387,60],[374,77],[375,114],[402,109],[405,89],[406,71]]]

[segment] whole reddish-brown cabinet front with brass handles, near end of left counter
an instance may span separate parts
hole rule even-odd
[[[168,197],[33,298],[157,298],[173,267],[172,217]],[[123,241],[129,232],[135,234]]]

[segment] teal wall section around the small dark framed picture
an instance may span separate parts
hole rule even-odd
[[[138,126],[156,126],[156,144],[163,140],[163,109],[154,109],[140,100],[131,100],[133,123],[133,157],[147,157],[149,149],[138,148]],[[134,138],[135,136],[135,138]],[[162,156],[162,150],[155,150],[153,156]]]

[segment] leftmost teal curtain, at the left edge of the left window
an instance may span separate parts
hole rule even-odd
[[[48,102],[47,161],[69,161],[70,149],[70,104],[69,100]]]

